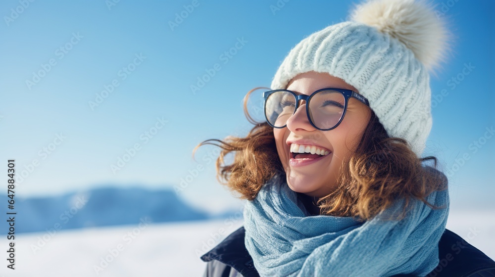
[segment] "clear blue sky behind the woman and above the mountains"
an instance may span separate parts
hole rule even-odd
[[[25,170],[18,195],[184,179],[180,197],[218,211],[240,202],[215,179],[217,149],[200,148],[194,161],[193,148],[246,135],[246,92],[269,86],[293,46],[346,20],[355,1],[22,3],[0,2],[0,157],[4,168],[15,158]],[[450,171],[452,206],[495,209],[487,131],[495,125],[495,2],[434,3],[455,41],[431,79],[425,155]]]

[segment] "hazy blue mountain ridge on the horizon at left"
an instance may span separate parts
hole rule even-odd
[[[86,227],[208,219],[179,199],[173,190],[104,187],[84,192],[40,198],[15,196],[14,210],[7,209],[7,195],[0,195],[0,213],[16,212],[15,232],[66,230]],[[0,234],[8,232],[6,221]]]

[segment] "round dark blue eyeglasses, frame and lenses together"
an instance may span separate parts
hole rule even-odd
[[[296,113],[300,100],[304,100],[309,123],[318,130],[328,131],[339,126],[344,119],[350,97],[369,106],[368,99],[344,89],[321,89],[311,95],[289,90],[263,92],[265,118],[271,127],[284,128],[287,120]]]

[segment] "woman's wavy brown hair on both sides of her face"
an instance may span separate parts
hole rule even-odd
[[[285,175],[273,128],[266,122],[254,121],[247,111],[247,99],[258,89],[247,92],[244,98],[244,114],[254,124],[247,137],[207,139],[193,150],[194,157],[201,145],[220,147],[222,150],[216,161],[217,180],[247,200],[253,200],[263,184],[275,174]],[[224,158],[231,152],[234,160],[225,164]],[[433,167],[423,167],[426,161],[433,161]],[[412,199],[418,199],[433,209],[443,208],[426,200],[433,191],[447,189],[447,179],[437,170],[437,163],[434,156],[418,158],[406,140],[389,137],[372,111],[357,148],[342,163],[338,188],[318,199],[316,204],[322,215],[352,216],[361,220],[371,219],[399,198],[405,199],[405,205],[397,219],[405,216]]]

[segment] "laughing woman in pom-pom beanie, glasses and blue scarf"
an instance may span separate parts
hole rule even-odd
[[[445,229],[446,177],[419,158],[447,38],[424,2],[373,0],[297,44],[263,93],[266,122],[216,140],[219,177],[248,201],[205,276],[494,275]]]

